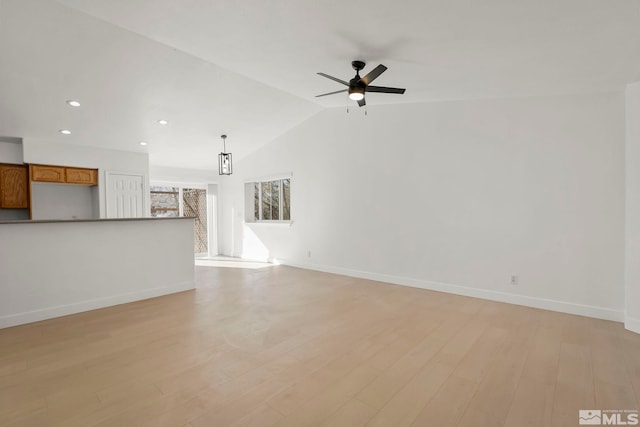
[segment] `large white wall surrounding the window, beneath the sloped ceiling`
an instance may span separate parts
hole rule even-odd
[[[622,93],[375,99],[234,165],[224,253],[254,239],[291,265],[622,320]],[[283,172],[292,226],[244,225],[244,181]]]

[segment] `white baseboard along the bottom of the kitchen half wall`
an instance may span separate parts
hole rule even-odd
[[[46,307],[38,310],[9,314],[6,316],[0,316],[0,329],[23,325],[25,323],[38,322],[40,320],[52,319],[54,317],[67,316],[69,314],[81,313],[83,311],[95,310],[98,308],[111,307],[113,305],[155,298],[162,295],[173,294],[176,292],[188,291],[191,289],[195,289],[195,283],[184,282],[173,286],[145,289],[142,291],[119,294],[106,298],[96,298],[87,301],[80,301],[73,304],[65,304],[56,307]]]

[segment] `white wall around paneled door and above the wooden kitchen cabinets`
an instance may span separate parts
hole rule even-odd
[[[44,165],[75,166],[99,169],[98,211],[105,218],[107,212],[107,172],[122,172],[144,177],[145,212],[150,212],[149,155],[133,151],[108,150],[104,148],[60,144],[33,138],[24,138],[24,162]]]

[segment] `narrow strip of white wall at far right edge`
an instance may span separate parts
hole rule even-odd
[[[640,333],[640,82],[626,90],[625,327]]]

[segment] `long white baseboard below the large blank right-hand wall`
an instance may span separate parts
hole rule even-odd
[[[307,270],[322,271],[325,273],[340,274],[343,276],[357,277],[360,279],[375,280],[394,285],[410,286],[413,288],[428,289],[431,291],[446,292],[467,297],[482,298],[491,301],[506,302],[509,304],[523,305],[540,308],[543,310],[559,311],[562,313],[577,314],[580,316],[594,317],[596,319],[625,321],[624,311],[605,307],[597,307],[585,304],[576,304],[566,301],[558,301],[546,298],[518,295],[488,289],[478,289],[469,286],[452,285],[450,283],[433,282],[428,280],[413,279],[409,277],[391,276],[387,274],[370,273],[367,271],[352,270],[343,267],[333,267],[320,264],[297,264],[281,260],[284,265],[304,268]],[[640,321],[636,326],[640,327]],[[627,328],[630,329],[630,328]],[[633,330],[633,329],[630,329]],[[636,329],[638,330],[638,329]]]

